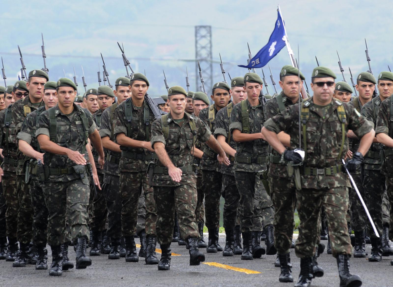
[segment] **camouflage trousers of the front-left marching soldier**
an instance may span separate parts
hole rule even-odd
[[[90,197],[88,179],[68,182],[49,182],[42,185],[48,208],[48,244],[66,242],[66,220],[71,239],[89,238],[87,206]]]

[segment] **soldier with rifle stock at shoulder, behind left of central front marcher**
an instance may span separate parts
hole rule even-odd
[[[121,225],[126,243],[126,262],[138,262],[134,241],[137,220],[138,198],[143,190],[146,203],[146,264],[158,264],[156,257],[156,204],[153,189],[148,184],[147,165],[155,154],[149,140],[154,121],[152,107],[145,101],[149,81],[141,73],[135,73],[130,79],[131,97],[118,105],[114,114],[114,135],[121,146],[120,194]]]

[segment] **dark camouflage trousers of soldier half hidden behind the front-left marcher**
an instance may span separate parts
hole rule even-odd
[[[30,179],[30,197],[33,205],[33,243],[36,245],[46,245],[48,227],[48,208],[46,208],[44,193],[42,191],[42,181]]]

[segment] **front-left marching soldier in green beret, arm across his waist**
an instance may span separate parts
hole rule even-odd
[[[104,164],[104,152],[92,115],[73,104],[76,90],[76,85],[70,79],[59,79],[56,85],[58,104],[41,113],[36,125],[37,141],[40,148],[45,150],[45,165],[39,164],[38,171],[41,180],[44,180],[42,190],[49,212],[51,276],[62,274],[61,244],[64,242],[66,216],[70,223],[70,235],[77,241],[76,269],[91,265],[91,259],[86,256],[90,193],[86,170],[88,138],[99,153],[100,165]],[[92,176],[94,184],[100,189],[97,173]]]

